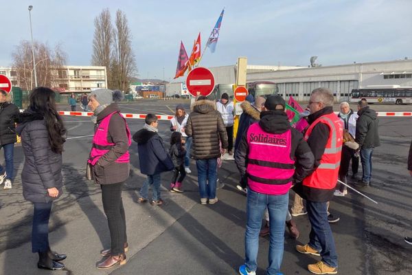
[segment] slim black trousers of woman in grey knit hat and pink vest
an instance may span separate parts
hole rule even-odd
[[[126,216],[122,201],[123,182],[101,186],[103,209],[111,237],[111,254],[119,255],[124,253],[124,243],[127,242]]]

